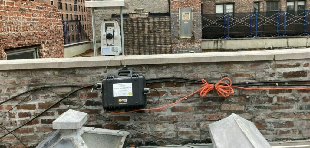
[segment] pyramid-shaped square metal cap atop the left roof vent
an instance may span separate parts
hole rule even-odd
[[[53,129],[80,129],[86,121],[87,113],[69,109],[53,122]]]

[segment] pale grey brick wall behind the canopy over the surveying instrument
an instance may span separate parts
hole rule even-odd
[[[86,0],[88,1],[88,0]],[[128,10],[123,10],[123,13],[131,13],[135,9],[144,9],[144,11],[150,13],[167,13],[169,12],[168,0],[126,0],[129,5]],[[96,37],[100,39],[100,27],[104,19],[110,19],[112,14],[120,14],[120,10],[95,10],[95,28]],[[87,10],[88,21],[88,36],[92,39],[92,26],[91,26],[91,9]]]

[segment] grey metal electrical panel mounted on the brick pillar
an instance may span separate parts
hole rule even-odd
[[[193,8],[179,8],[180,37],[193,36]]]

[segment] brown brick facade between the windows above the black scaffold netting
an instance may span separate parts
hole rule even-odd
[[[274,0],[267,0],[274,1]],[[280,11],[286,10],[286,0],[278,0]],[[234,3],[235,13],[250,13],[254,10],[253,2],[259,2],[259,11],[267,11],[266,0],[202,0],[203,14],[215,14],[216,3]],[[306,0],[306,9],[310,9],[310,1]]]

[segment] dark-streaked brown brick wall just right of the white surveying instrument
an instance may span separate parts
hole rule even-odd
[[[120,24],[120,19],[105,21]],[[125,55],[171,53],[170,16],[126,18],[123,23]]]

